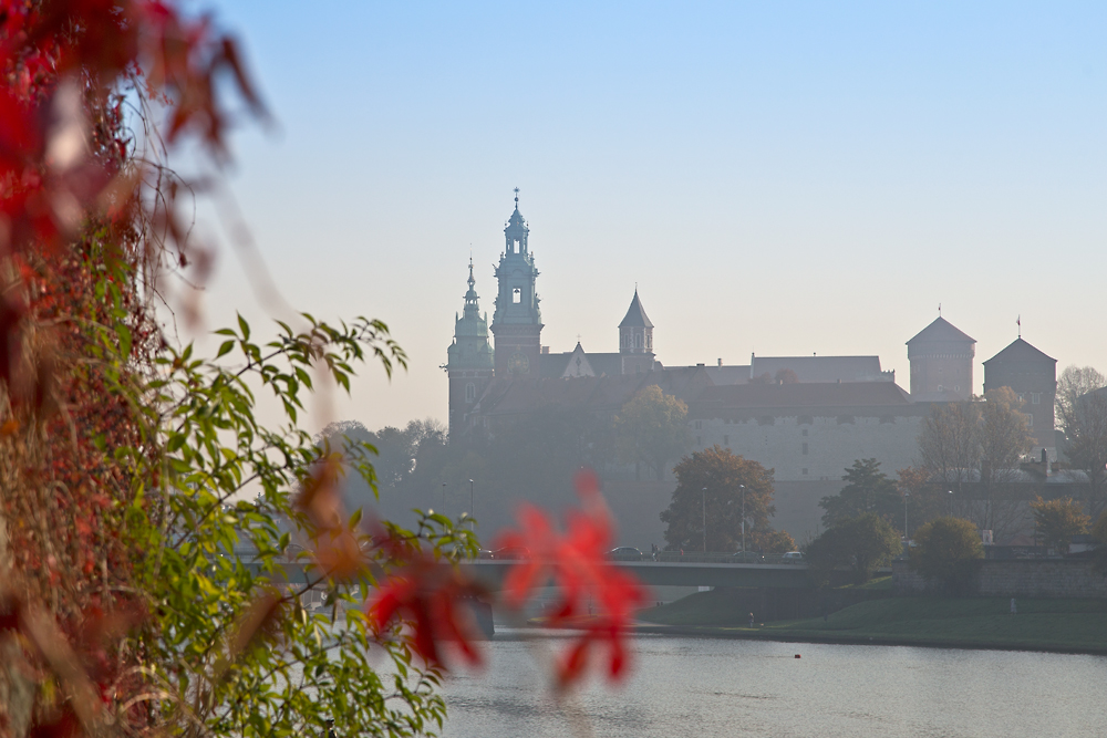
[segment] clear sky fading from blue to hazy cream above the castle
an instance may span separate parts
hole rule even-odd
[[[200,6],[197,6],[200,7]],[[276,123],[230,190],[287,301],[384,320],[332,414],[446,418],[439,368],[519,187],[542,343],[617,351],[635,284],[665,365],[876,354],[938,315],[1107,371],[1107,6],[215,0]],[[206,324],[258,299],[225,242]]]

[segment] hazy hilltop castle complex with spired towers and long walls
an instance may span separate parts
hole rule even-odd
[[[917,462],[919,433],[933,404],[972,396],[976,341],[941,315],[907,342],[910,392],[894,372],[880,368],[878,356],[751,355],[747,365],[720,360],[666,367],[654,354],[654,325],[637,289],[618,326],[618,353],[588,353],[579,342],[550,353],[541,344],[529,232],[516,190],[490,325],[478,309],[469,261],[464,312],[444,367],[452,435],[495,433],[551,405],[613,415],[655,384],[689,405],[694,448],[718,444],[775,469],[778,510],[787,512],[789,489],[806,490],[796,493],[808,500],[799,507],[810,508],[811,495],[837,491],[855,459],[877,458],[889,474]],[[1051,460],[1057,457],[1056,363],[1021,335],[983,362],[984,391],[1007,386],[1023,398],[1036,439],[1031,453]]]

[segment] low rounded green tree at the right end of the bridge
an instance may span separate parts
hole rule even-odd
[[[887,520],[866,512],[837,520],[811,541],[804,555],[813,576],[820,584],[831,571],[847,568],[856,584],[863,584],[872,573],[903,551],[899,533]]]

